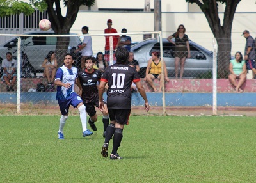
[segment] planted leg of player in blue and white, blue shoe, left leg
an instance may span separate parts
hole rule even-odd
[[[68,110],[70,106],[70,100],[67,100],[65,102],[61,102],[60,100],[58,100],[58,104],[60,106],[60,111],[61,111],[60,125],[58,130],[58,139],[64,139],[63,129],[68,119]]]

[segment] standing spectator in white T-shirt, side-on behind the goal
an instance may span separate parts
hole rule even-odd
[[[83,26],[82,33],[84,35],[87,35],[89,31],[89,28],[87,26]],[[82,52],[82,58],[81,58],[81,69],[84,70],[85,67],[85,60],[87,57],[92,56],[92,37],[91,36],[84,36],[84,40],[82,45],[76,49],[75,52]]]

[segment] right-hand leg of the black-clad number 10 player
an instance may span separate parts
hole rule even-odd
[[[121,144],[121,141],[123,138],[124,125],[129,120],[130,113],[131,113],[131,109],[116,109],[116,116],[115,116],[116,129],[114,133],[113,148],[112,148],[112,153],[110,155],[110,159],[122,159],[122,157],[118,155],[117,150]]]

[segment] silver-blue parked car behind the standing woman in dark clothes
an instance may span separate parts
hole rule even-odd
[[[174,41],[174,40],[173,40]],[[212,72],[212,52],[189,40],[191,58],[186,58],[184,77],[202,77]],[[163,59],[166,62],[168,77],[175,77],[175,63],[173,57],[175,45],[163,39]],[[134,58],[140,64],[140,77],[145,77],[151,52],[160,51],[160,43],[152,38],[144,40],[131,47]]]

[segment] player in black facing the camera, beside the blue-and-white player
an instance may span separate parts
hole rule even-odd
[[[78,73],[77,86],[80,89],[79,95],[83,99],[84,106],[86,106],[86,112],[90,116],[88,123],[93,131],[97,131],[95,122],[97,121],[97,114],[95,107],[99,107],[98,87],[97,83],[100,82],[101,72],[100,70],[93,69],[95,63],[94,57],[88,57],[85,61],[85,70]],[[104,110],[102,111],[102,122],[103,122],[103,137],[105,137],[106,129],[109,124],[108,108],[106,103],[104,104]]]

